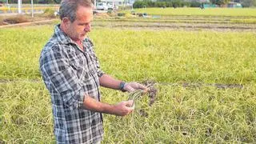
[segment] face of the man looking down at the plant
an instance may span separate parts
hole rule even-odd
[[[74,41],[82,41],[86,34],[90,32],[90,22],[92,22],[92,20],[92,8],[78,6],[74,22],[68,21],[66,23],[66,33]]]

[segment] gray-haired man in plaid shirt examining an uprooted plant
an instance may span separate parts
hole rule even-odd
[[[60,25],[42,50],[40,70],[50,91],[54,134],[58,143],[102,141],[102,113],[125,116],[133,101],[115,105],[100,102],[99,86],[115,90],[145,90],[136,82],[116,80],[100,70],[90,32],[93,10],[90,0],[64,0]]]

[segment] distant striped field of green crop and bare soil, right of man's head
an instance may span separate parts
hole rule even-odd
[[[122,11],[126,18],[98,18],[96,26],[154,30],[214,30],[214,31],[255,31],[256,9],[230,8],[146,8],[135,9],[135,17],[129,10]]]

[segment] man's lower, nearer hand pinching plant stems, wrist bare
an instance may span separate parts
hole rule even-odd
[[[114,106],[114,114],[118,116],[126,116],[127,114],[130,114],[134,110],[134,107],[130,107],[133,103],[133,100],[118,103]]]

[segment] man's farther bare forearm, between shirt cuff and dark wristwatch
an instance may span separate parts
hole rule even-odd
[[[111,88],[114,90],[119,90],[119,86],[122,81],[114,79],[108,74],[103,74],[102,77],[99,78],[99,82],[101,86]]]

